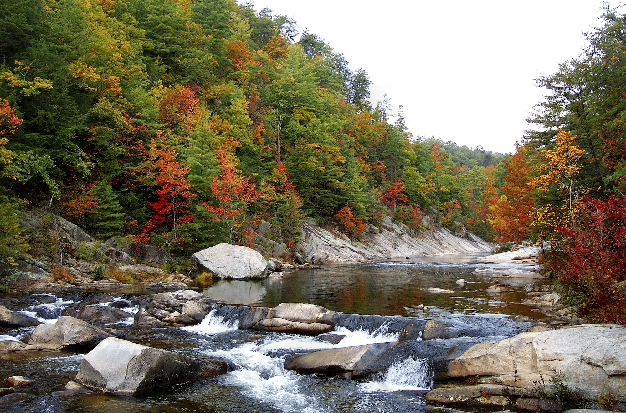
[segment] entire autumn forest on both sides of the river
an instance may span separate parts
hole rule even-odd
[[[512,155],[425,139],[374,103],[364,69],[294,19],[233,0],[14,0],[0,8],[0,253],[18,210],[188,256],[289,248],[307,217],[360,239],[423,215],[541,244],[563,300],[626,322],[626,20],[607,6],[580,57],[542,76]],[[618,308],[617,311],[614,308]]]

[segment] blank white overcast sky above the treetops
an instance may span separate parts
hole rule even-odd
[[[618,4],[621,2],[614,1]],[[404,106],[409,130],[513,151],[540,73],[578,56],[603,0],[254,0],[293,16],[366,69],[372,101]]]

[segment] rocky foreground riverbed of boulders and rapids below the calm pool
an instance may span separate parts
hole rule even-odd
[[[1,302],[0,374],[25,382],[0,405],[26,412],[625,407],[624,327],[228,305],[188,289]]]

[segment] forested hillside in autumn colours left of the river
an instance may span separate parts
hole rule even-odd
[[[49,208],[175,255],[250,245],[259,220],[294,247],[305,217],[360,238],[428,213],[493,237],[500,156],[416,138],[294,27],[232,0],[3,1],[4,226]]]

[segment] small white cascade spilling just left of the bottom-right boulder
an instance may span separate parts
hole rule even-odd
[[[392,364],[386,373],[361,385],[365,392],[397,392],[399,390],[430,390],[433,388],[433,372],[428,359],[409,357]]]

